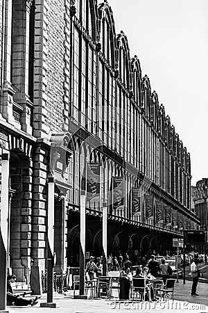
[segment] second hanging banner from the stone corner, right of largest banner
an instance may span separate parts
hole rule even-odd
[[[113,186],[113,208],[122,210],[124,209],[124,178],[112,177]]]

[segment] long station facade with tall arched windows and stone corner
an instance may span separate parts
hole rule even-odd
[[[116,35],[110,4],[0,3],[8,267],[46,268],[49,177],[55,179],[55,271],[78,266],[81,193],[86,256],[102,253],[103,205],[107,254],[128,252],[134,262],[137,255],[173,252],[172,239],[200,223],[190,208],[190,155],[139,59],[130,57],[128,38]],[[96,186],[89,184],[92,166]]]

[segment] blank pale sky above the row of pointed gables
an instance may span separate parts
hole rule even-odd
[[[191,184],[208,177],[208,0],[108,0],[141,74],[191,154]]]

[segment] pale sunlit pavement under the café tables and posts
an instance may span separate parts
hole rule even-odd
[[[60,305],[55,309],[40,308],[40,303],[46,302],[46,294],[43,294],[39,302],[34,307],[7,307],[11,313],[40,312],[41,313],[109,313],[109,312],[125,312],[132,310],[132,312],[208,312],[208,284],[198,283],[197,292],[200,296],[191,296],[192,282],[186,281],[183,284],[182,280],[175,283],[175,296],[173,300],[164,302],[122,302],[118,298],[111,300],[102,298],[98,300],[79,300],[73,299],[73,291],[68,291],[66,294],[54,294],[53,302]],[[78,291],[77,291],[78,292]],[[116,290],[114,289],[114,296]]]

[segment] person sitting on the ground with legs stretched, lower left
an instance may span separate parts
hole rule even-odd
[[[8,275],[7,278],[7,292],[6,292],[6,305],[19,305],[19,306],[25,306],[25,305],[33,305],[37,304],[37,297],[32,298],[30,300],[20,298],[18,295],[16,296],[14,294],[14,291],[12,289],[12,282],[15,282],[16,280],[15,275]]]

